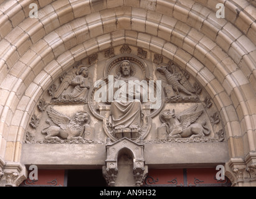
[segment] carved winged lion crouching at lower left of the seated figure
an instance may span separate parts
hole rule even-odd
[[[73,119],[59,113],[52,107],[47,113],[52,121],[47,119],[46,123],[50,126],[42,130],[42,134],[47,135],[45,139],[83,139],[83,132],[90,123],[90,116],[87,111],[76,113]]]

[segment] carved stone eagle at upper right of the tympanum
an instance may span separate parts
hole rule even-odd
[[[182,91],[187,95],[193,95],[192,93],[196,92],[187,80],[187,76],[181,71],[178,71],[173,62],[169,62],[168,65],[162,63],[156,70],[166,77],[168,85],[172,86],[177,95],[179,95],[179,91]]]

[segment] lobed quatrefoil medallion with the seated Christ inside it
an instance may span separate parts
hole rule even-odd
[[[88,106],[93,116],[103,121],[103,130],[112,141],[123,137],[138,141],[147,136],[151,118],[164,106],[164,93],[161,86],[156,91],[156,83],[148,78],[145,62],[136,56],[119,55],[108,62],[104,77],[90,90]],[[153,96],[153,103],[149,90],[159,94],[159,98]],[[159,108],[151,109],[151,104],[159,104]]]

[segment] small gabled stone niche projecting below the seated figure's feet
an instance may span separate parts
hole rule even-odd
[[[107,159],[105,160],[106,165],[103,166],[103,176],[108,185],[111,187],[140,187],[146,175],[148,175],[148,167],[145,165],[143,157],[143,141],[136,143],[123,137],[119,141],[111,143],[110,139],[108,139],[106,150]],[[123,177],[125,177],[125,180]]]

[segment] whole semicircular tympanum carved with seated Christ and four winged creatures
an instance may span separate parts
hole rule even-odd
[[[123,73],[124,65],[128,65],[128,75]],[[119,88],[127,88],[130,81],[138,82],[142,89],[146,85],[148,101],[141,100],[142,96],[140,102],[130,104],[109,101],[109,91],[116,81],[125,82]],[[159,88],[157,81],[161,81]],[[95,100],[100,90],[107,93],[107,101],[103,103]],[[160,96],[158,108],[151,108],[157,102],[150,101],[150,95],[155,99]],[[207,92],[173,60],[122,45],[90,55],[62,73],[39,99],[25,142],[97,144],[107,137],[113,142],[123,137],[135,142],[142,138],[148,144],[222,142],[225,131],[219,116]],[[96,123],[100,125],[95,128]]]

